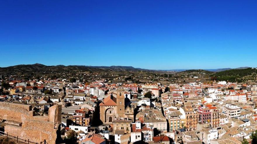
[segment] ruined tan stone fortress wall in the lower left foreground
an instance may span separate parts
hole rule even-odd
[[[0,119],[21,122],[21,126],[6,125],[5,133],[40,143],[55,144],[61,123],[61,105],[49,108],[48,116],[34,116],[31,106],[0,102]]]

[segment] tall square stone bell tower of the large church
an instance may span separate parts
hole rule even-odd
[[[125,116],[125,90],[123,88],[117,88],[117,114],[119,118]]]

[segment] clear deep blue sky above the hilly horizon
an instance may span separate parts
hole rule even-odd
[[[257,1],[0,2],[0,67],[257,67]]]

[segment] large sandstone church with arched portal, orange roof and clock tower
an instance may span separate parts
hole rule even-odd
[[[125,90],[123,88],[117,88],[116,91],[110,93],[99,106],[100,120],[104,124],[111,124],[118,119],[134,121],[134,108],[125,106]]]

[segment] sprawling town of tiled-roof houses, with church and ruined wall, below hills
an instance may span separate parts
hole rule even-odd
[[[1,74],[1,137],[48,144],[256,143],[254,80],[221,81],[207,70],[166,73]]]

